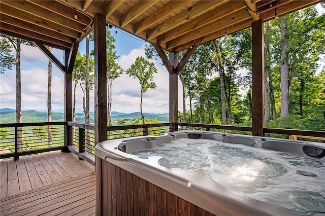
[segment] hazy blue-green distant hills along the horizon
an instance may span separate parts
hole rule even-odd
[[[22,111],[22,122],[47,122],[47,112],[40,112],[35,110],[29,111]],[[159,122],[168,122],[169,121],[169,114],[144,114],[145,119],[157,119]],[[89,115],[90,124],[94,123],[94,113],[90,112]],[[132,121],[134,118],[141,118],[141,114],[137,113],[119,113],[119,112],[112,112],[112,124],[117,122],[118,120],[128,120]],[[60,122],[64,121],[64,114],[63,113],[52,113],[52,121],[53,122]],[[76,113],[75,114],[75,121],[76,122],[85,122],[85,115],[83,113]],[[5,108],[0,109],[0,123],[15,123],[16,122],[16,111]]]

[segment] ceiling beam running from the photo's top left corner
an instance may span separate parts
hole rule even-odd
[[[1,1],[1,3],[29,13],[31,16],[38,16],[44,20],[52,21],[58,25],[68,27],[81,33],[83,32],[83,28],[86,27],[86,25],[82,25],[80,23],[77,23],[76,21],[69,20],[51,11],[35,7],[35,5],[26,1]]]

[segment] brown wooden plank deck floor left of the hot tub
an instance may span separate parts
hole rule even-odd
[[[72,153],[0,162],[0,215],[93,215],[95,172]]]

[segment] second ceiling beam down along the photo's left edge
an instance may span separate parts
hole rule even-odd
[[[26,30],[31,30],[31,31],[37,32],[39,34],[44,34],[47,37],[58,39],[58,40],[61,40],[61,41],[64,41],[64,42],[72,43],[72,42],[75,41],[74,38],[68,37],[67,35],[61,34],[61,33],[57,32],[57,31],[49,30],[49,29],[40,27],[38,25],[31,24],[29,22],[25,22],[25,21],[16,19],[14,17],[10,17],[10,16],[5,15],[5,14],[1,14],[1,21],[4,22],[4,23],[10,24],[10,25],[19,27],[19,28],[23,28],[23,29],[26,29]]]

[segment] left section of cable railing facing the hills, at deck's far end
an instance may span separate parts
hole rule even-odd
[[[62,150],[66,122],[14,123],[0,125],[0,158]]]

